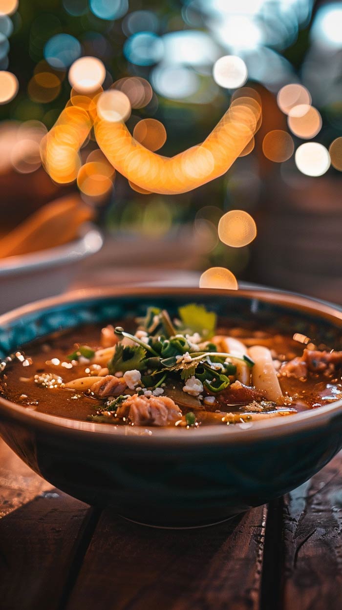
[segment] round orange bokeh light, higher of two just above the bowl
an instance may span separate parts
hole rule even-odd
[[[230,210],[220,218],[218,233],[221,242],[234,248],[242,248],[257,236],[257,225],[244,210]]]

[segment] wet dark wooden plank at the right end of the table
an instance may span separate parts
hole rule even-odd
[[[342,454],[284,498],[283,608],[342,608]]]

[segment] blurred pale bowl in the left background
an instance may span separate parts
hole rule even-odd
[[[73,242],[0,259],[0,314],[37,298],[64,292],[79,263],[98,252],[102,244],[100,231],[90,223],[81,228]]]

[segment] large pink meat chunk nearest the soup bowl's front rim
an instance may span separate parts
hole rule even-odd
[[[134,394],[120,404],[117,417],[128,417],[134,426],[167,426],[182,416],[172,398],[139,396]]]

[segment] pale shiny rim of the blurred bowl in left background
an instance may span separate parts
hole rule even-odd
[[[90,254],[95,254],[103,246],[103,235],[93,223],[85,223],[79,230],[79,237],[61,246],[38,250],[29,254],[19,254],[1,259],[0,279],[6,276],[30,273],[49,267],[71,264]]]

